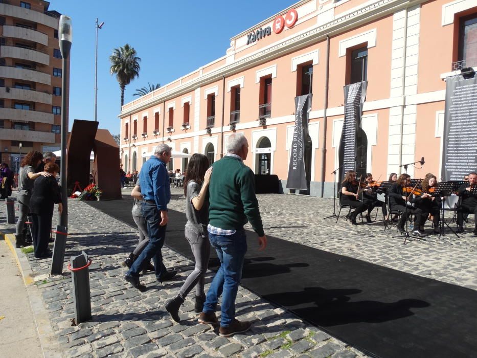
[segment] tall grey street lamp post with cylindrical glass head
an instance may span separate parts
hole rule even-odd
[[[68,132],[68,123],[66,118],[66,59],[70,55],[71,43],[73,42],[73,29],[71,17],[60,16],[58,24],[59,46],[62,57],[63,76],[61,78],[61,201],[63,203],[63,212],[60,215],[60,225],[68,227],[68,191],[66,178],[66,133]]]

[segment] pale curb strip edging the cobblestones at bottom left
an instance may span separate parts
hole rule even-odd
[[[5,234],[0,231],[0,237],[4,237],[7,246],[12,252],[25,287],[27,288],[28,300],[30,301],[30,307],[33,312],[33,320],[35,321],[36,330],[38,332],[43,357],[60,358],[62,356],[60,353],[60,346],[54,344],[54,342],[57,341],[57,338],[53,332],[50,318],[48,317],[48,311],[44,308],[43,299],[39,289],[34,284],[34,275],[30,263],[28,262],[27,255],[25,255],[21,249],[16,249],[14,234]]]

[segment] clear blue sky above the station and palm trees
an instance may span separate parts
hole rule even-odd
[[[70,53],[70,130],[74,119],[94,120],[95,21],[98,30],[98,121],[120,132],[121,93],[109,73],[112,50],[129,43],[141,58],[139,78],[124,103],[148,83],[164,85],[225,55],[230,38],[296,3],[293,0],[51,0],[50,10],[73,21]]]

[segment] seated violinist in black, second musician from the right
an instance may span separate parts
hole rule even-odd
[[[434,174],[426,174],[421,183],[422,194],[415,197],[414,206],[421,209],[421,222],[419,230],[424,232],[424,223],[427,216],[430,214],[434,217],[434,233],[439,233],[439,222],[441,221],[441,205],[442,199],[439,196],[433,195],[433,189],[437,187],[437,177]]]

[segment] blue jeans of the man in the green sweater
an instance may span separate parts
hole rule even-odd
[[[228,327],[235,319],[235,298],[242,278],[247,237],[245,231],[241,229],[233,235],[226,236],[209,233],[209,240],[217,252],[220,268],[210,285],[203,312],[215,313],[217,302],[222,295],[220,326]]]

